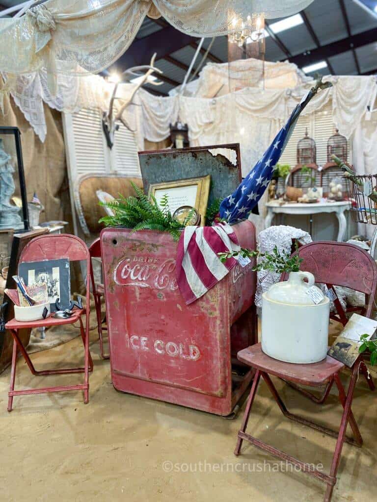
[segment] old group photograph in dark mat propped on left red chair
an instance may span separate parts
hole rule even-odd
[[[18,273],[27,286],[46,284],[51,311],[56,310],[55,302],[57,299],[63,309],[69,307],[71,292],[69,260],[67,258],[20,263]]]

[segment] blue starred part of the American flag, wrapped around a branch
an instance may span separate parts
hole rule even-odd
[[[317,81],[315,87],[304,96],[301,102],[295,107],[285,126],[275,136],[271,145],[264,152],[261,159],[255,164],[250,173],[244,178],[237,189],[225,198],[220,205],[220,217],[235,223],[237,220],[246,219],[253,207],[258,203],[263,195],[268,183],[271,181],[274,167],[280,159],[281,154],[290,139],[300,113],[309,103],[312,97],[317,94],[318,89],[331,87],[330,82],[322,83]]]

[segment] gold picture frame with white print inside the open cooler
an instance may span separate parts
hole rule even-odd
[[[171,214],[181,206],[195,207],[201,217],[200,224],[204,226],[206,224],[210,184],[210,175],[164,183],[153,183],[149,185],[148,197],[150,199],[153,195],[158,203],[167,194],[169,196]]]

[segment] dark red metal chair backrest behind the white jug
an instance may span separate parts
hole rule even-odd
[[[304,260],[300,269],[311,272],[317,283],[365,293],[365,315],[371,315],[377,291],[377,264],[364,249],[346,242],[318,241],[305,244],[296,254]],[[288,274],[283,274],[281,280],[287,279]]]

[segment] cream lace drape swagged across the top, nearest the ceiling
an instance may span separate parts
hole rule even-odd
[[[45,67],[61,71],[55,61],[97,73],[110,66],[132,43],[145,16],[160,13],[178,30],[193,36],[223,35],[228,16],[264,12],[289,16],[313,0],[48,0],[21,18],[0,19],[0,71],[30,73]],[[56,82],[50,82],[55,85]]]

